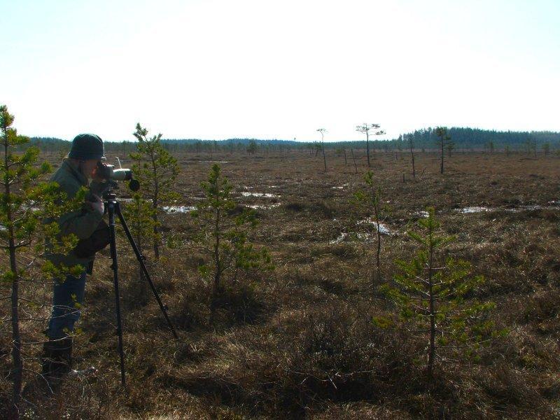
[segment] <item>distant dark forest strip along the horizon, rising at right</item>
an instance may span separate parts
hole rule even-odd
[[[549,150],[560,149],[559,132],[499,132],[495,130],[479,130],[472,128],[451,127],[448,134],[456,151],[499,151],[508,148],[510,151],[526,151],[528,148]],[[381,151],[394,151],[409,148],[412,140],[414,148],[430,151],[436,148],[437,136],[435,129],[427,128],[416,130],[412,133],[402,134],[396,139],[377,140],[370,139],[370,147]],[[282,150],[314,150],[320,147],[320,142],[303,142],[294,140],[260,140],[260,139],[227,139],[227,140],[201,140],[201,139],[162,139],[162,143],[173,151],[282,151]],[[43,151],[64,151],[69,148],[69,141],[53,137],[31,137],[31,144],[38,146]],[[107,151],[130,153],[134,141],[106,141]],[[329,141],[325,148],[365,148],[363,141]]]

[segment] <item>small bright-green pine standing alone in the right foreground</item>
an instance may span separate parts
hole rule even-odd
[[[397,261],[402,274],[395,276],[395,287],[381,286],[400,309],[401,321],[412,324],[413,334],[426,338],[430,380],[435,362],[438,358],[443,360],[444,351],[458,351],[463,357],[476,358],[476,349],[498,334],[487,317],[495,304],[467,299],[484,283],[484,278],[471,276],[468,262],[453,258],[442,261],[440,251],[454,237],[437,233],[440,223],[434,214],[430,208],[428,217],[419,221],[423,234],[408,233],[421,248],[409,262]]]

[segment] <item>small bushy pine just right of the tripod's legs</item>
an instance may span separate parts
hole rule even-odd
[[[221,173],[220,165],[213,165],[208,180],[202,182],[205,198],[191,212],[197,220],[199,232],[194,242],[207,255],[209,262],[200,266],[203,276],[212,279],[211,322],[214,322],[216,303],[223,290],[223,281],[237,280],[239,272],[270,267],[267,248],[256,250],[249,234],[257,226],[255,211],[244,209],[234,215],[232,184]]]

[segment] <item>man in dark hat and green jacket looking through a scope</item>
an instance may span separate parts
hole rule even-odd
[[[79,307],[83,302],[86,274],[92,274],[95,251],[109,243],[109,228],[103,221],[104,204],[101,198],[108,182],[97,175],[97,167],[104,159],[102,139],[94,134],[79,134],[72,141],[70,153],[51,177],[51,181],[58,183],[68,199],[88,184],[89,192],[80,210],[63,214],[57,220],[59,236],[76,235],[78,246],[66,255],[50,253],[46,256],[57,266],[79,265],[82,269],[77,277],[67,275],[65,279],[54,281],[52,314],[46,331],[48,342],[43,346],[41,358],[43,377],[48,382],[64,377],[71,370],[71,333],[80,318]],[[52,220],[45,222],[50,223]]]

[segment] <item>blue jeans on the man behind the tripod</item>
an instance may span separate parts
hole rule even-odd
[[[52,314],[47,335],[50,339],[66,337],[74,330],[80,318],[80,306],[85,290],[85,272],[79,277],[66,276],[64,281],[55,279],[52,291]]]

